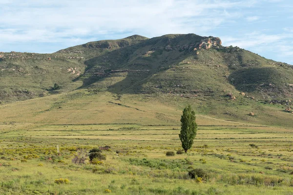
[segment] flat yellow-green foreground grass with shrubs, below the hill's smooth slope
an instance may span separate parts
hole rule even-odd
[[[6,133],[9,136],[2,136],[0,142],[1,194],[289,195],[292,192],[292,130],[199,126],[194,147],[188,154],[166,156],[167,151],[180,149],[178,126],[113,124],[105,130],[109,126],[46,125],[41,130]],[[52,136],[58,132],[61,132],[58,136]],[[83,136],[84,133],[90,134]],[[60,155],[56,152],[57,144]],[[101,165],[71,162],[74,156],[87,156],[89,149],[104,145],[110,145],[111,150],[103,152],[107,159]],[[193,168],[205,170],[208,176],[200,183],[189,178],[188,171]],[[66,178],[69,183],[56,184],[55,179],[59,178]]]

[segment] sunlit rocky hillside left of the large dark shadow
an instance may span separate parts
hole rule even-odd
[[[82,82],[72,81],[84,73],[85,60],[145,39],[135,35],[119,40],[95,41],[53,54],[1,52],[0,101],[24,100],[75,90],[83,85]],[[54,88],[55,83],[58,88]]]

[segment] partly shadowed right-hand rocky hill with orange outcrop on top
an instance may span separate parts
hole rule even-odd
[[[265,59],[219,38],[194,34],[146,39],[85,61],[84,87],[113,93],[193,97],[244,92],[258,99],[293,98],[293,66]]]

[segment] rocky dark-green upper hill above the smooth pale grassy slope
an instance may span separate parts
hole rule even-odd
[[[244,93],[247,98],[288,102],[293,99],[293,66],[195,34],[134,35],[53,54],[0,53],[2,102],[83,88],[183,98]]]

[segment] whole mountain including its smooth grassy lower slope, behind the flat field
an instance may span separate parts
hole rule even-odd
[[[202,121],[289,127],[292,100],[293,66],[215,37],[134,35],[53,54],[0,53],[0,121],[21,128],[177,124],[187,103]]]

